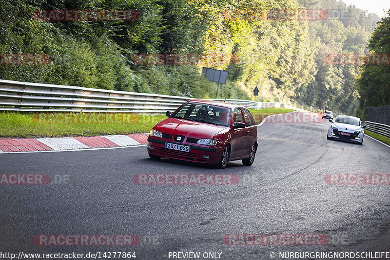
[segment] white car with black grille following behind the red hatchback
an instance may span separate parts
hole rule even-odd
[[[337,139],[363,144],[365,125],[362,125],[360,118],[338,115],[336,119],[329,120],[331,125],[328,129],[327,139]]]

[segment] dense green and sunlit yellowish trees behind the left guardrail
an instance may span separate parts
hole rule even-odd
[[[262,19],[248,10],[326,9],[324,20]],[[137,10],[137,20],[45,21],[37,9]],[[0,65],[0,79],[214,98],[203,66],[227,70],[218,97],[282,101],[353,114],[355,65],[379,20],[336,0],[0,0],[0,54],[44,53],[45,65]],[[195,65],[138,64],[137,54],[203,54]]]

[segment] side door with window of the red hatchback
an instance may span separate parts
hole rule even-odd
[[[245,123],[244,115],[240,108],[235,108],[233,111],[233,128],[236,123]],[[235,128],[232,130],[232,140],[230,158],[236,158],[243,156],[243,151],[246,149],[245,139],[247,138],[245,128]]]

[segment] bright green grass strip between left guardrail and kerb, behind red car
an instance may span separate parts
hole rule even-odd
[[[256,123],[286,108],[250,109]],[[165,115],[129,113],[0,113],[0,138],[41,138],[148,133]],[[259,120],[259,122],[258,122]]]

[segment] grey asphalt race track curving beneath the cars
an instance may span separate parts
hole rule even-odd
[[[0,251],[219,252],[272,259],[279,252],[390,251],[390,185],[329,185],[327,174],[389,174],[390,148],[326,140],[329,122],[264,123],[252,166],[225,170],[148,158],[146,147],[0,154],[0,173],[69,175],[67,184],[0,185]],[[235,185],[137,185],[135,174],[236,174]],[[135,234],[134,246],[39,246],[39,234]],[[225,234],[324,234],[323,245],[226,245]],[[164,257],[165,256],[165,257]],[[177,258],[175,258],[177,259]],[[184,258],[181,258],[184,259]],[[187,258],[186,258],[187,259]],[[209,259],[209,258],[199,258]],[[211,258],[210,258],[211,259]],[[214,259],[214,258],[213,258]]]

